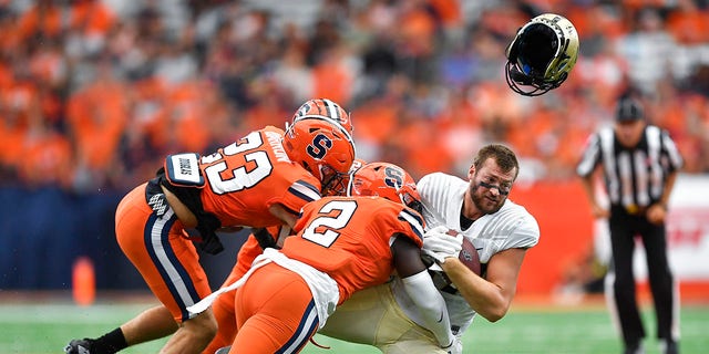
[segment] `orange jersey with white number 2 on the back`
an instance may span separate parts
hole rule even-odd
[[[379,197],[326,197],[307,204],[296,237],[281,252],[328,273],[340,291],[353,292],[386,282],[392,273],[394,237],[423,244],[423,218],[401,204]]]

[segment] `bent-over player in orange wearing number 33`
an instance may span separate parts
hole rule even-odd
[[[294,119],[285,133],[267,126],[212,155],[167,156],[157,176],[129,192],[116,210],[119,244],[164,308],[97,340],[71,341],[65,352],[115,353],[175,330],[162,353],[204,350],[217,323],[212,311],[186,311],[210,288],[185,229],[198,230],[202,249],[215,253],[222,250],[217,229],[292,226],[302,205],[342,189],[354,145],[351,129],[340,124],[349,117],[327,118],[328,112],[347,114],[340,108]]]

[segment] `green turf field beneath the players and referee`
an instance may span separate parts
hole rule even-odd
[[[66,301],[49,304],[0,304],[0,353],[63,353],[72,337],[95,336],[112,330],[151,303],[107,304],[105,301],[78,308]],[[646,323],[653,313],[644,312]],[[707,353],[709,348],[709,306],[685,306],[681,311],[681,353]],[[651,325],[647,326],[654,331]],[[309,344],[308,354],[367,354],[377,350],[316,336],[331,350]],[[122,353],[156,353],[163,341],[146,343]],[[464,336],[465,353],[620,353],[620,345],[603,306],[513,308],[497,323],[479,317]],[[659,353],[648,339],[646,353]]]

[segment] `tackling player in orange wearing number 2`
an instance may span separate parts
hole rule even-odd
[[[352,197],[307,204],[297,235],[282,249],[267,248],[236,283],[188,310],[198,313],[215,295],[238,288],[232,347],[298,353],[337,305],[395,271],[441,347],[452,346],[443,298],[420,257],[423,219],[415,183],[399,166],[372,163],[354,173],[348,189]]]

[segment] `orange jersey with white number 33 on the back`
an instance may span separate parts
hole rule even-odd
[[[205,179],[202,204],[222,226],[279,225],[270,206],[279,204],[297,214],[320,197],[320,181],[288,158],[282,136],[284,131],[267,126],[199,158]]]

